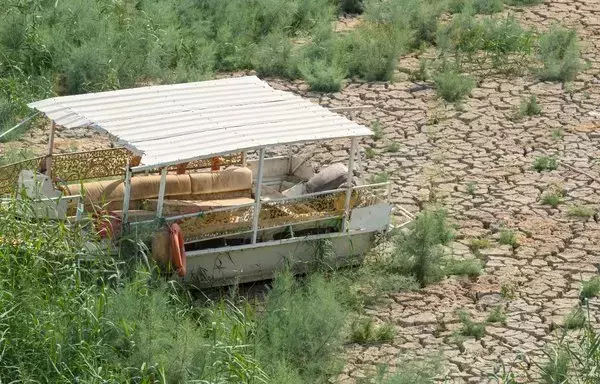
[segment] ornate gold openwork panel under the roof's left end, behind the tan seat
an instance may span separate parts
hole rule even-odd
[[[80,181],[125,174],[134,154],[125,148],[100,149],[52,156],[52,179]]]

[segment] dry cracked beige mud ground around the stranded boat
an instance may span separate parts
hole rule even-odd
[[[327,95],[307,92],[301,81],[269,81],[326,107],[375,106],[348,114],[365,125],[378,119],[383,128],[383,139],[362,142],[365,174],[387,172],[393,202],[411,212],[433,200],[443,204],[458,226],[456,256],[473,257],[474,238],[491,240],[480,251],[486,267],[479,278],[448,279],[420,292],[389,295],[368,308],[378,321],[394,324],[396,336],[389,344],[348,345],[341,383],[356,382],[378,364],[394,369],[402,356],[439,353],[446,382],[497,382],[490,375],[503,365],[522,382],[535,382],[535,362],[543,360],[564,315],[577,306],[581,281],[599,271],[597,217],[572,217],[567,210],[574,204],[600,208],[600,0],[547,0],[507,12],[538,29],[555,22],[575,27],[589,68],[566,86],[533,76],[489,77],[460,110],[401,73],[393,84],[352,83]],[[418,60],[403,58],[401,65],[418,66]],[[530,95],[537,96],[543,114],[510,119],[514,106]],[[34,129],[11,145],[43,152],[46,142],[43,129]],[[399,144],[397,151],[388,150],[391,143]],[[60,152],[109,145],[106,137],[86,129],[60,130],[56,140]],[[370,159],[367,147],[375,151]],[[347,150],[346,142],[328,143],[313,160],[345,161]],[[533,170],[541,155],[560,159],[558,169]],[[542,205],[541,195],[555,188],[564,191],[563,202],[556,208]],[[514,230],[519,245],[499,244],[500,228]],[[483,320],[498,305],[507,314],[505,324],[488,325],[481,340],[453,341],[457,310]],[[591,307],[598,321],[599,303],[592,301]]]

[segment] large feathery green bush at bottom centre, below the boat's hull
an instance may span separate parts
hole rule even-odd
[[[346,317],[336,289],[322,276],[301,284],[283,273],[273,283],[258,325],[258,357],[294,367],[304,382],[315,382],[331,369]]]

